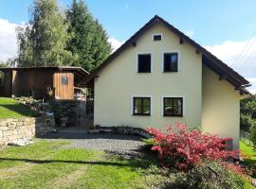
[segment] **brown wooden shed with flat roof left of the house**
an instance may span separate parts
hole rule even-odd
[[[0,72],[4,73],[0,96],[46,98],[51,89],[58,99],[73,99],[76,87],[84,87],[81,80],[89,75],[74,66],[0,68]]]

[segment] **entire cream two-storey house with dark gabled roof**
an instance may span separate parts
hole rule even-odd
[[[174,122],[239,144],[239,101],[249,82],[155,16],[84,79],[94,125],[164,129]]]

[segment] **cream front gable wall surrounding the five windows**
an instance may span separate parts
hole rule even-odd
[[[162,41],[152,35],[161,33]],[[178,72],[163,73],[163,53],[178,52]],[[152,73],[137,73],[137,54],[152,54]],[[184,97],[184,117],[162,116],[162,96]],[[132,96],[151,96],[151,116],[132,115]],[[184,123],[192,128],[201,126],[202,56],[189,43],[166,27],[156,24],[118,58],[112,60],[95,78],[94,124],[104,127],[155,127]]]

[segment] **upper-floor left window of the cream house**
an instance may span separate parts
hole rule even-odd
[[[137,55],[137,72],[138,73],[151,72],[151,54]]]

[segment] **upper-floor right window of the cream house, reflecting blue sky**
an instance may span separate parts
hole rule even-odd
[[[177,72],[178,54],[164,53],[164,72]]]

